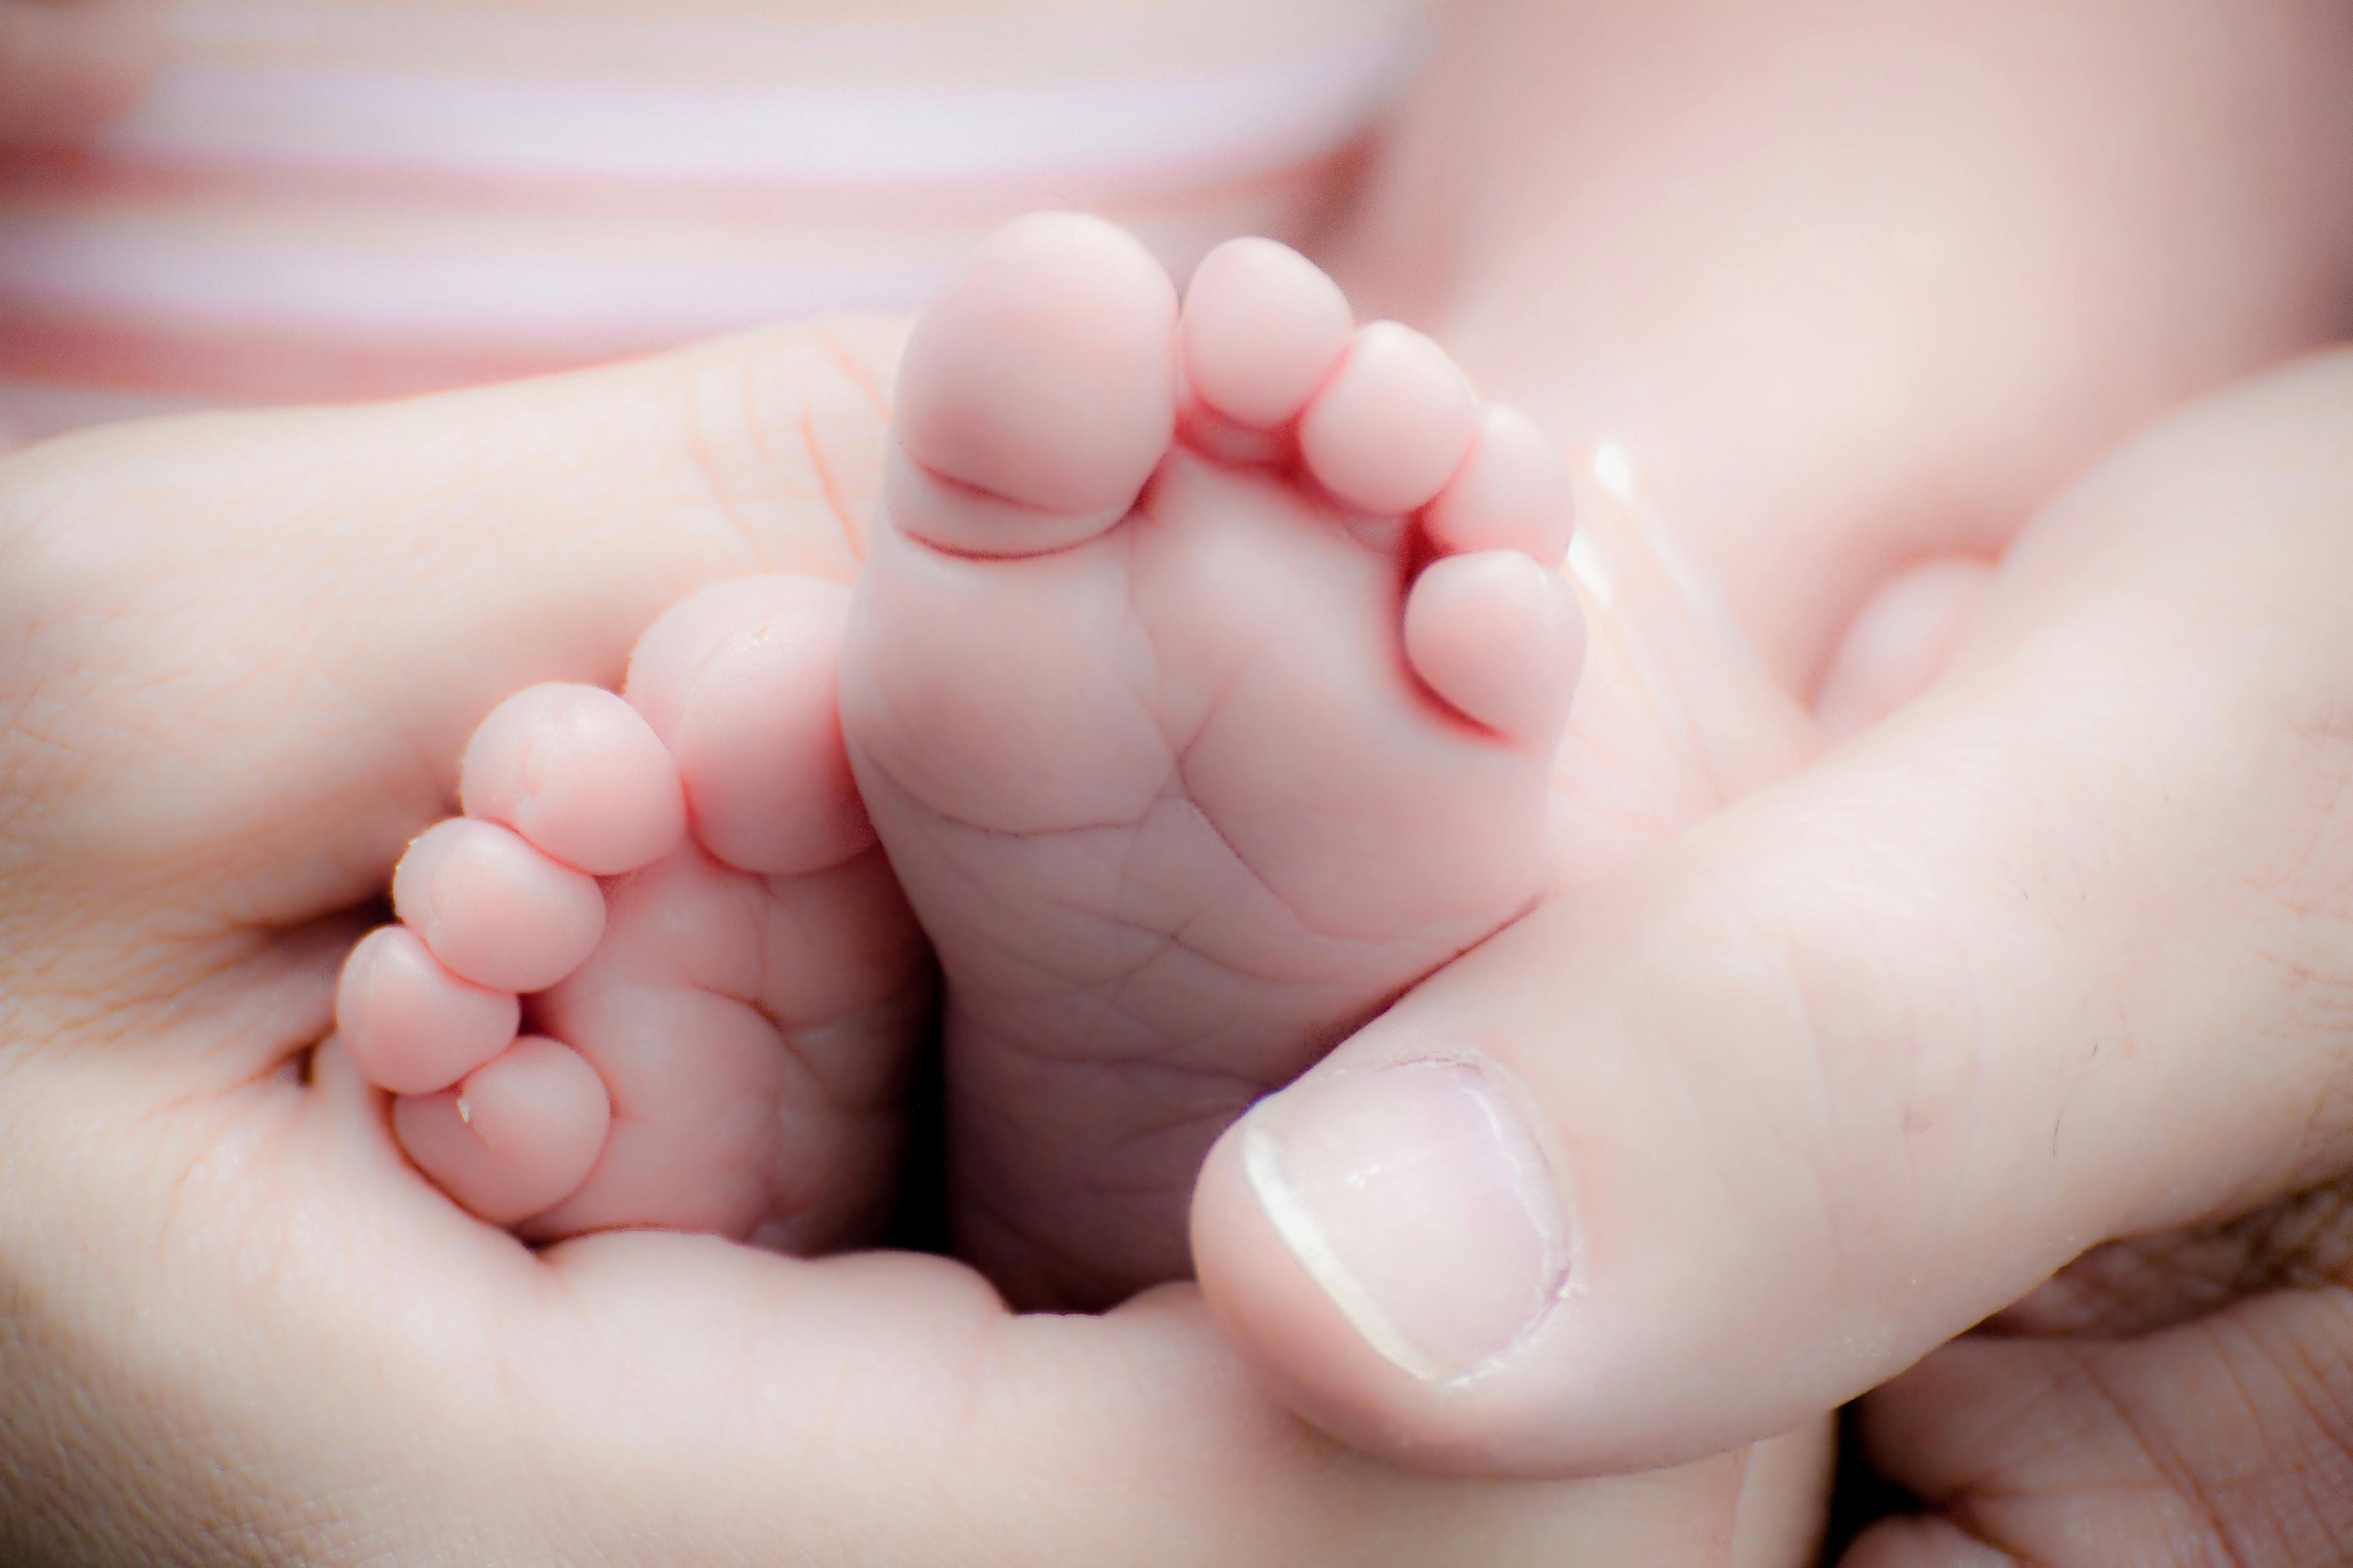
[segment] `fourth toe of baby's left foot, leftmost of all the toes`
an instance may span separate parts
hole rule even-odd
[[[522,1001],[459,980],[407,926],[372,931],[344,959],[334,1030],[376,1088],[433,1093],[515,1039]]]

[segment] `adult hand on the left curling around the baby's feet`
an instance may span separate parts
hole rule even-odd
[[[0,465],[0,1559],[1706,1561],[1741,1460],[1473,1486],[1315,1439],[1191,1288],[529,1253],[327,1037],[468,729],[701,583],[847,576],[894,331]],[[1802,1521],[1781,1519],[1781,1544]]]

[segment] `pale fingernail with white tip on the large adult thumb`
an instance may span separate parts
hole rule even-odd
[[[1242,1124],[1275,1234],[1424,1382],[1501,1363],[1572,1279],[1560,1187],[1513,1098],[1480,1067],[1421,1060],[1311,1077]]]

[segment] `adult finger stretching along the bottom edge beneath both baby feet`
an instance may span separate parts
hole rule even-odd
[[[285,1011],[212,992],[195,1032]],[[1504,1568],[1725,1561],[1746,1526],[1739,1458],[1499,1488],[1315,1441],[1188,1288],[1016,1319],[939,1258],[527,1253],[365,1135],[332,1048],[209,1098],[120,1053],[0,1067],[9,1563]],[[1802,1519],[1758,1528],[1798,1561]]]

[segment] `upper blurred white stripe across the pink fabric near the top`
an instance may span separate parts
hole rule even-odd
[[[1285,59],[984,89],[666,87],[184,63],[101,148],[141,160],[911,186],[1271,169],[1360,134],[1386,31]]]

